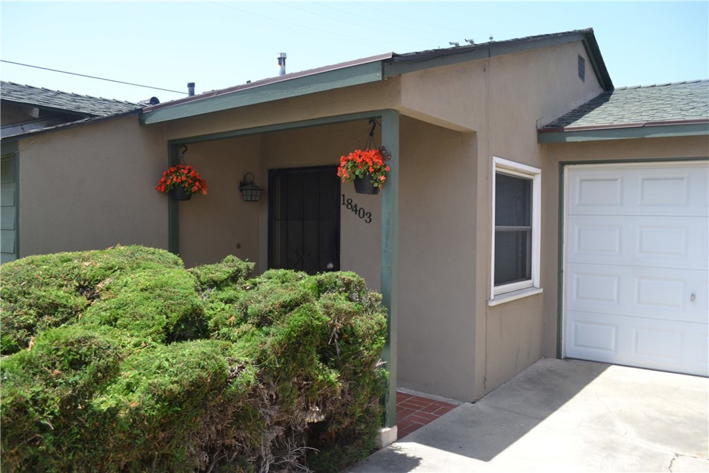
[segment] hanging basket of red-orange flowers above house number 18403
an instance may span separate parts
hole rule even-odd
[[[386,182],[386,173],[390,171],[384,164],[384,155],[388,154],[383,146],[374,150],[354,150],[340,157],[337,176],[342,182],[354,181],[357,194],[379,194]]]

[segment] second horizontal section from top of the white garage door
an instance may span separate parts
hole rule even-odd
[[[705,217],[569,216],[569,263],[704,269]]]

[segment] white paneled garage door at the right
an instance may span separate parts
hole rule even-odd
[[[707,376],[708,169],[566,167],[566,357]]]

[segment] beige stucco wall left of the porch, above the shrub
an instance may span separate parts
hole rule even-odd
[[[136,116],[19,142],[21,256],[121,244],[167,247],[167,163],[159,130]]]

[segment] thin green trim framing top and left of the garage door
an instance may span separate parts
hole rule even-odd
[[[637,158],[625,160],[583,160],[583,161],[559,161],[559,213],[558,213],[558,234],[557,234],[557,358],[564,357],[564,224],[566,217],[566,167],[574,165],[622,165],[632,163],[653,162],[709,162],[709,157],[653,157]]]

